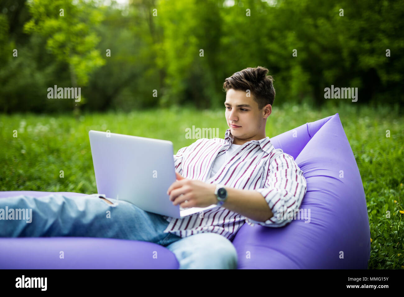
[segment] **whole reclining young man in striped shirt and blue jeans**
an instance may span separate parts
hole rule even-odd
[[[307,190],[292,156],[265,137],[275,89],[264,67],[226,78],[225,138],[198,139],[174,155],[177,181],[167,190],[173,204],[207,211],[177,219],[143,211],[126,201],[99,196],[18,196],[0,209],[32,208],[32,223],[0,220],[0,237],[93,236],[143,240],[166,246],[180,269],[235,269],[232,240],[247,222],[282,227]],[[99,199],[101,198],[101,199]],[[109,213],[108,218],[105,213]],[[281,216],[277,214],[280,213]]]

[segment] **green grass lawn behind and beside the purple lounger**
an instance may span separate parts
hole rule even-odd
[[[404,120],[397,112],[389,107],[359,109],[347,102],[319,111],[307,105],[275,105],[266,135],[273,137],[337,112],[366,194],[372,238],[369,268],[402,269],[404,219],[399,211],[404,211]],[[176,153],[195,141],[185,138],[185,128],[192,125],[217,127],[223,137],[228,128],[224,113],[224,107],[215,111],[170,108],[82,114],[79,121],[71,114],[0,115],[0,190],[96,193],[89,130],[167,139]],[[13,130],[18,137],[13,137]]]

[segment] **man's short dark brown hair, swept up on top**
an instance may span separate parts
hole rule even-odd
[[[267,75],[268,69],[258,66],[257,68],[248,67],[225,79],[223,88],[246,91],[250,90],[252,98],[258,103],[261,110],[267,104],[273,104],[275,100],[275,88],[272,85],[274,78]]]

